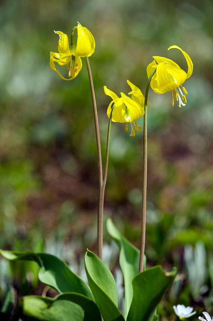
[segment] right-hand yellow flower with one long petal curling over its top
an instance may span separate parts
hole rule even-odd
[[[152,77],[150,83],[151,88],[158,94],[172,91],[172,105],[174,106],[174,100],[177,99],[177,101],[179,101],[179,107],[181,107],[185,106],[185,95],[187,95],[187,91],[182,85],[185,80],[191,76],[193,72],[193,63],[190,56],[180,47],[171,46],[170,48],[168,48],[168,50],[170,50],[171,48],[177,48],[183,53],[188,65],[187,73],[183,69],[181,69],[173,60],[159,56],[153,56],[154,61],[148,65],[146,72],[149,78],[153,70],[156,69],[156,73]],[[180,87],[182,87],[185,95],[183,94]]]

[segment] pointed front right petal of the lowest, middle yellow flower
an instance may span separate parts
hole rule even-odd
[[[142,108],[136,101],[126,96],[123,92],[121,92],[121,97],[123,99],[123,103],[129,109],[129,113],[130,113],[130,119],[129,117],[126,118],[126,122],[129,122],[129,121],[133,122],[144,115],[144,108]],[[123,116],[124,114],[126,115],[125,110],[124,110]]]

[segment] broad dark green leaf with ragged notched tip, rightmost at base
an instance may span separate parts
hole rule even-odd
[[[127,321],[147,321],[166,291],[170,288],[177,269],[165,273],[161,266],[154,266],[138,273],[132,280],[133,298]]]

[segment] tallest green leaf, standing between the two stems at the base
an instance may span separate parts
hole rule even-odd
[[[125,305],[124,305],[124,317],[130,309],[130,304],[133,296],[132,280],[138,274],[139,268],[139,256],[140,251],[137,247],[126,239],[119,230],[116,229],[111,219],[106,222],[106,228],[109,235],[114,239],[119,247],[119,263],[123,273],[124,279],[124,291],[125,291]],[[144,265],[146,266],[146,257],[144,258]]]

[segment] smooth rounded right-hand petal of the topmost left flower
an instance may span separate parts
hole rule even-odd
[[[95,50],[95,39],[91,32],[82,27],[80,23],[77,26],[78,39],[76,45],[75,56],[86,57],[91,56]]]

